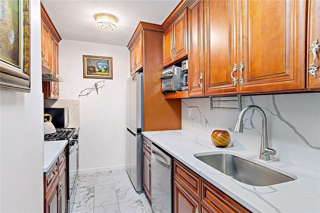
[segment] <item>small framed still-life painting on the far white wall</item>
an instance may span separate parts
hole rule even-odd
[[[112,57],[83,55],[83,77],[112,79]]]

